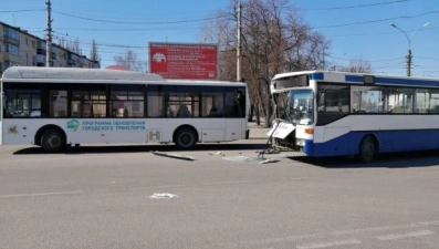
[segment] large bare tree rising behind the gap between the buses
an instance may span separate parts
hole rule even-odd
[[[228,10],[218,13],[221,80],[237,75],[237,0],[231,0]],[[261,113],[269,126],[271,77],[286,71],[323,69],[330,43],[322,34],[311,31],[288,0],[243,1],[241,37],[242,75],[249,83],[257,123]]]

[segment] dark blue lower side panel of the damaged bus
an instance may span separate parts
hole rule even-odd
[[[379,153],[439,149],[439,129],[351,132],[325,143],[306,141],[303,153],[310,156],[357,155],[366,135],[374,135]]]

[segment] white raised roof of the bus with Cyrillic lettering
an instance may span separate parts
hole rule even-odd
[[[188,84],[240,85],[241,82],[211,80],[167,80],[159,74],[108,69],[10,66],[4,70],[3,82],[17,83],[129,83],[129,84]]]

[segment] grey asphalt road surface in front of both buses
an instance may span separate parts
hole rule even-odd
[[[0,248],[438,248],[438,152],[260,164],[264,143],[0,146]]]

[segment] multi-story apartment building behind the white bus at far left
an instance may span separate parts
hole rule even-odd
[[[97,61],[52,44],[53,68],[101,68]],[[46,43],[28,31],[0,22],[0,75],[9,66],[45,66]]]

